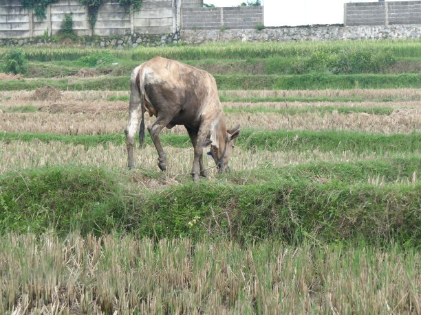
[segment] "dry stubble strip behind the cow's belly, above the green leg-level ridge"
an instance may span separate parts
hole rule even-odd
[[[115,108],[116,104],[106,104]],[[103,109],[103,108],[102,108]],[[50,132],[63,135],[98,135],[122,132],[127,125],[124,111],[101,110],[97,106],[50,106],[47,112],[2,113],[0,130],[10,132]],[[67,113],[61,112],[65,110]],[[155,117],[145,115],[146,124]],[[266,130],[355,130],[361,132],[419,132],[421,131],[421,109],[395,110],[392,115],[371,115],[367,113],[340,114],[337,112],[302,113],[286,115],[278,113],[228,113],[228,126],[241,124],[242,128]],[[183,126],[176,126],[163,132],[184,134]]]

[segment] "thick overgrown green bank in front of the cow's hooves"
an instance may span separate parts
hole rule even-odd
[[[334,168],[346,177],[352,170],[343,166]],[[363,238],[374,244],[393,239],[420,246],[420,182],[378,186],[279,176],[240,186],[204,181],[125,198],[118,180],[124,181],[105,170],[83,167],[3,174],[1,232],[118,229],[159,238],[280,237],[290,243],[308,237],[323,242]]]

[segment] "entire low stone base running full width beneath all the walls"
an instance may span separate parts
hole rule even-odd
[[[421,38],[421,25],[373,25],[373,26],[338,26],[325,25],[316,27],[273,27],[258,31],[248,30],[182,30],[179,33],[164,35],[132,34],[95,38],[81,37],[76,43],[96,47],[122,49],[125,47],[163,46],[169,43],[201,44],[215,41],[249,41],[249,42],[284,42],[297,40],[360,40],[360,39],[399,39]],[[54,37],[45,38],[8,38],[0,39],[0,46],[38,45],[54,43]]]

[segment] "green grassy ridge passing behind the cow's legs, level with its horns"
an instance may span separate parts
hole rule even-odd
[[[161,135],[162,145],[177,148],[190,148],[187,135]],[[0,141],[63,141],[75,145],[101,145],[106,143],[125,143],[125,135],[52,135],[29,132],[1,132]],[[145,139],[152,145],[150,137]],[[236,140],[236,145],[245,150],[320,150],[321,152],[346,151],[354,152],[417,152],[420,150],[421,133],[411,134],[365,134],[347,131],[256,131],[243,130]]]

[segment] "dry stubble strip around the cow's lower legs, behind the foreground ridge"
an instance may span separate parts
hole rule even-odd
[[[190,178],[191,166],[193,165],[193,148],[173,148],[167,146],[166,165],[169,178],[186,176]],[[414,154],[419,154],[415,152]],[[396,154],[382,153],[382,158],[389,156],[406,156],[406,152]],[[143,149],[135,149],[136,165],[142,169],[156,170],[158,154],[153,146],[147,145]],[[281,167],[285,165],[299,165],[302,163],[313,163],[320,161],[343,162],[343,161],[366,161],[378,159],[376,152],[355,153],[345,152],[320,152],[318,150],[290,152],[270,152],[261,150],[259,152],[243,151],[236,147],[230,157],[230,165],[233,170],[252,170],[260,168]],[[30,142],[10,141],[0,142],[0,172],[19,170],[32,167],[43,167],[45,165],[93,165],[104,166],[114,170],[125,170],[127,166],[126,145],[97,145],[86,148],[84,145],[63,143],[60,141],[41,142],[34,139]],[[204,163],[208,167],[215,167],[212,159],[205,154]],[[210,170],[210,178],[216,173],[215,168]]]

